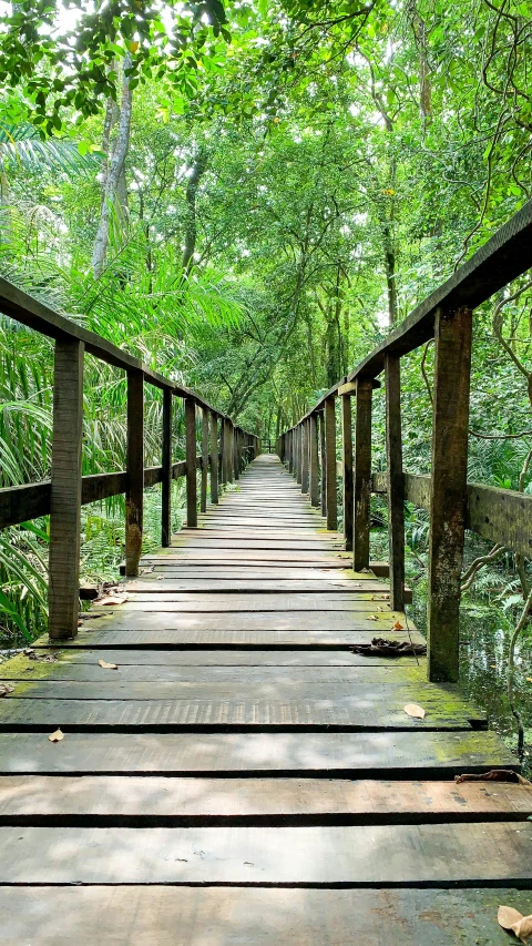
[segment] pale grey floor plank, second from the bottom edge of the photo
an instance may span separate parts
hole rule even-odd
[[[522,824],[521,832],[515,822],[494,822],[489,830],[481,824],[142,832],[0,827],[0,883],[530,887],[532,837]]]

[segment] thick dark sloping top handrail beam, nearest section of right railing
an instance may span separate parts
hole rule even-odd
[[[385,354],[406,355],[434,335],[437,311],[477,308],[512,279],[530,268],[532,201],[514,214],[477,253],[413,309],[400,326],[360,362],[348,380],[376,377],[383,370]]]

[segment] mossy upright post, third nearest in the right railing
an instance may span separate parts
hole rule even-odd
[[[374,383],[357,378],[355,408],[355,516],[352,567],[369,568],[369,503],[371,499],[371,398]]]

